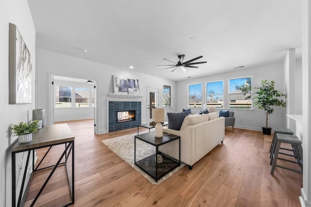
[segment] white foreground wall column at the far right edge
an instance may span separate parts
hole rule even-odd
[[[303,127],[303,187],[300,202],[302,206],[311,206],[311,2],[301,1],[302,19],[302,127]]]

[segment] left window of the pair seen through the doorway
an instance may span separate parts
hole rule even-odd
[[[55,86],[55,108],[71,107],[72,88],[67,86]]]

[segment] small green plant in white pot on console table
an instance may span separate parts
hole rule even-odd
[[[12,125],[11,128],[13,135],[18,136],[18,142],[29,143],[32,141],[32,133],[38,130],[38,121],[20,122],[17,125]]]

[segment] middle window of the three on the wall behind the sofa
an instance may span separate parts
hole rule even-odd
[[[224,80],[206,83],[206,105],[224,108]]]

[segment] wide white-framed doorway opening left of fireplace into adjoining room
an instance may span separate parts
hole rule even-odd
[[[94,134],[97,134],[96,81],[53,75],[51,80],[50,124],[93,119]]]

